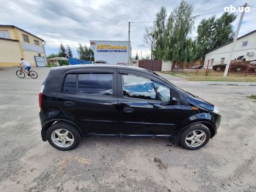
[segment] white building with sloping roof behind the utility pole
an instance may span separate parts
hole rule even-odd
[[[208,59],[210,59],[210,68],[216,64],[226,63],[232,43],[233,41],[230,41],[208,52],[205,55],[204,67],[207,67]],[[231,59],[235,59],[241,55],[244,55],[243,58],[246,58],[246,60],[256,59],[256,30],[237,38],[236,46]]]

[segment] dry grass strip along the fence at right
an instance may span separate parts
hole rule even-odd
[[[192,72],[171,72],[171,71],[162,71],[161,73],[169,74],[175,77],[181,77],[182,79],[188,81],[237,81],[237,82],[256,82],[256,76],[245,76],[242,74],[229,74],[227,77],[223,77],[223,73],[214,73],[211,72],[205,76],[205,71],[199,71],[198,75]]]

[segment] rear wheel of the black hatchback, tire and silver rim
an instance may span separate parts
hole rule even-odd
[[[69,131],[69,133],[67,134],[66,137],[68,137],[68,139],[73,139],[74,140],[73,142],[65,140],[63,138],[63,135],[65,135],[65,133],[66,133],[65,130]],[[62,135],[62,137],[57,136],[56,131],[58,133],[60,133]],[[59,138],[57,138],[57,137],[59,137]],[[74,125],[65,123],[65,122],[57,122],[57,123],[53,124],[52,126],[50,126],[46,132],[46,138],[52,147],[59,149],[59,150],[63,150],[63,151],[74,149],[75,147],[78,146],[78,144],[81,140],[81,136],[79,134],[78,129]],[[53,141],[54,138],[57,141]],[[65,142],[65,145],[66,145],[65,147],[62,146],[63,142]]]

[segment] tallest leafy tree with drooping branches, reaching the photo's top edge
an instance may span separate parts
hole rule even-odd
[[[164,59],[172,61],[171,70],[176,63],[184,64],[191,60],[193,40],[189,37],[194,25],[193,6],[182,0],[170,14],[165,32]]]

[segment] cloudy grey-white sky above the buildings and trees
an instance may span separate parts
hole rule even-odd
[[[245,3],[256,7],[255,0],[191,0],[194,15],[224,10],[230,5],[237,7]],[[60,43],[71,46],[77,57],[78,43],[89,46],[90,40],[128,40],[128,22],[154,21],[161,6],[168,15],[180,0],[0,0],[0,25],[14,25],[43,39],[46,55],[58,53]],[[197,11],[196,11],[197,10]],[[203,18],[220,17],[223,12],[198,16],[190,34],[196,37],[196,28]],[[236,30],[240,13],[234,22]],[[256,29],[256,8],[245,13],[239,36]],[[144,29],[153,25],[131,23],[132,56],[146,57],[149,47],[143,42]]]

